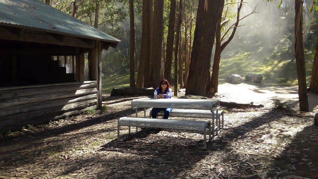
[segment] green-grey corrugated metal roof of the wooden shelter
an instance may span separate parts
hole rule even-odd
[[[36,28],[87,39],[120,42],[119,39],[39,0],[0,0],[0,25]]]

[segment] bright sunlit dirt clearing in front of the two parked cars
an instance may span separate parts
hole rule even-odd
[[[240,84],[223,82],[218,86],[218,92],[223,101],[238,103],[263,104],[265,107],[273,106],[273,100],[288,101],[288,106],[299,111],[298,86],[283,87],[272,86],[266,83],[243,81]],[[318,112],[318,95],[308,93],[309,111]]]

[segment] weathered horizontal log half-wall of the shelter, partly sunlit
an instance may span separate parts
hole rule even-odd
[[[0,88],[0,133],[96,109],[96,81]]]

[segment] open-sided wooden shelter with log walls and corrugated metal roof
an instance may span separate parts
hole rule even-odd
[[[100,109],[101,51],[119,42],[39,0],[0,0],[0,133]]]

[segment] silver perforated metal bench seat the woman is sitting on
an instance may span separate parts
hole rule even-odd
[[[163,116],[163,111],[157,113],[157,116]],[[216,134],[221,130],[221,116],[222,116],[222,128],[224,127],[224,112],[223,110],[218,110],[218,117],[216,118],[216,125],[218,126],[214,129]],[[149,117],[151,118],[151,110],[149,112]],[[198,109],[173,109],[169,117],[184,117],[184,118],[212,118],[213,114],[210,110],[198,110]],[[213,126],[214,127],[214,126]]]

